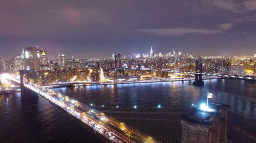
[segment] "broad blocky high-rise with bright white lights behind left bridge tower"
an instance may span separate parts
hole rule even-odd
[[[39,70],[39,49],[37,46],[27,47],[23,51],[25,59],[25,69]]]

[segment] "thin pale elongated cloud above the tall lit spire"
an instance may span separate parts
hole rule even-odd
[[[221,30],[207,30],[205,28],[156,28],[156,29],[141,29],[144,33],[153,34],[156,36],[179,36],[185,34],[219,34]]]

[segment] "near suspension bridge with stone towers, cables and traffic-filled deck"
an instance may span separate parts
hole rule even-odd
[[[20,71],[20,79],[11,75],[8,79],[20,84],[25,100],[38,95],[44,97],[105,142],[256,142],[254,134],[227,124],[226,105],[212,104],[217,113],[195,108],[188,112],[155,111],[153,108],[131,111],[122,107],[86,105],[41,87],[36,83],[34,70]],[[232,134],[242,134],[242,137]]]

